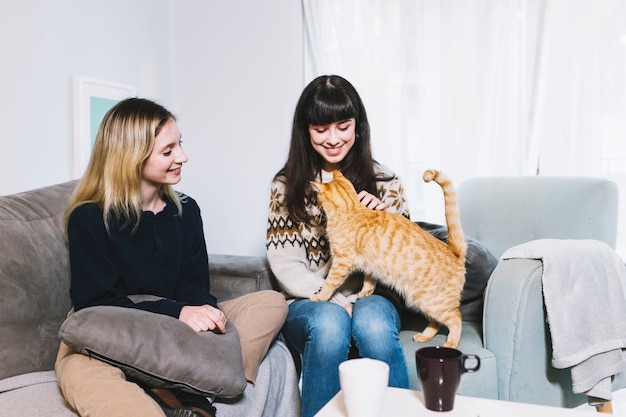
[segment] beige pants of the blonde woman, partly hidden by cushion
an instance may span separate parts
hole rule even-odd
[[[220,303],[241,340],[246,379],[254,383],[259,364],[287,316],[276,291],[259,291]],[[164,417],[144,390],[107,363],[76,353],[61,342],[55,370],[68,404],[82,417]]]

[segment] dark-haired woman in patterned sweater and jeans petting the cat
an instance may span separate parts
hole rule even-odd
[[[327,182],[340,169],[372,210],[409,216],[402,183],[372,158],[363,102],[344,78],[313,80],[296,106],[285,166],[271,189],[267,256],[289,313],[287,341],[302,355],[302,417],[311,417],[339,391],[338,366],[358,355],[389,364],[389,385],[408,388],[400,344],[401,308],[390,292],[356,298],[362,276],[354,275],[329,302],[309,300],[331,265],[323,211],[310,181]]]

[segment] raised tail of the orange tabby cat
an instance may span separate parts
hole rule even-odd
[[[467,244],[465,243],[465,235],[463,234],[463,229],[461,228],[459,204],[452,181],[436,169],[428,169],[424,171],[422,178],[424,182],[435,181],[441,186],[444,198],[446,224],[448,225],[448,247],[456,257],[465,260]]]

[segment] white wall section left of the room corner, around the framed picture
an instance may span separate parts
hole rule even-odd
[[[172,102],[168,0],[0,6],[0,194],[72,177],[72,76]]]

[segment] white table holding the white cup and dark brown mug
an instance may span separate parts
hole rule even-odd
[[[367,393],[363,394],[367,395]],[[381,417],[589,417],[589,415],[588,411],[583,410],[487,400],[462,395],[456,396],[452,411],[436,412],[424,406],[424,397],[421,391],[387,388]],[[613,416],[617,416],[617,414],[613,414]],[[343,402],[343,394],[339,392],[315,417],[348,417]]]

